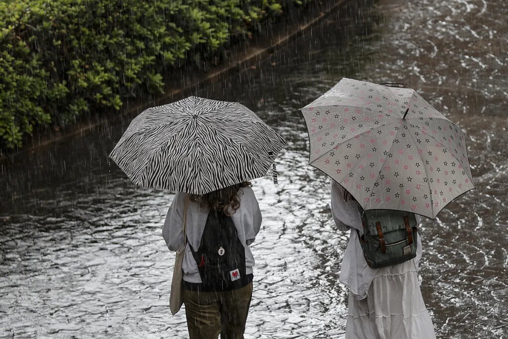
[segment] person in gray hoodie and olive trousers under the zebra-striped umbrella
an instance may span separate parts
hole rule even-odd
[[[252,297],[252,267],[255,264],[249,245],[255,240],[262,221],[258,200],[250,186],[250,182],[243,182],[202,196],[178,192],[168,210],[163,236],[168,249],[178,251],[184,243],[183,215],[185,201],[189,199],[185,231],[187,242],[182,271],[183,302],[190,339],[216,339],[219,333],[221,339],[243,338]],[[244,258],[245,266],[244,271],[240,272],[244,272],[245,276],[228,288],[221,288],[220,285],[215,288],[214,285],[210,290],[210,287],[203,283],[207,278],[196,252],[203,246],[205,226],[208,235],[213,234],[210,233],[211,227],[217,227],[210,224],[217,211],[234,224],[237,242],[244,250],[242,260]],[[238,247],[241,249],[241,246]],[[218,252],[223,255],[220,253],[224,253],[224,250]],[[239,277],[237,271],[230,273],[232,280]]]

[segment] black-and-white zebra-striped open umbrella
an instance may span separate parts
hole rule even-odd
[[[239,103],[188,97],[135,117],[109,157],[138,186],[201,195],[264,176],[285,143]]]

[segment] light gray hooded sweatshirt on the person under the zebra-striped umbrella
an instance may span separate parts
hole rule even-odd
[[[238,232],[238,239],[245,248],[246,274],[250,274],[255,262],[249,245],[254,241],[261,228],[262,216],[258,200],[250,187],[241,188],[238,191],[238,196],[240,198],[240,207],[231,215],[231,219]],[[183,247],[182,229],[186,198],[187,193],[176,193],[162,229],[164,240],[166,240],[168,249],[171,251],[178,251]],[[192,200],[189,202],[185,231],[189,242],[185,246],[185,255],[182,263],[183,280],[189,283],[202,282],[198,264],[196,264],[190,251],[189,243],[193,246],[193,249],[197,250],[199,248],[209,211],[210,208],[201,206],[198,202]]]

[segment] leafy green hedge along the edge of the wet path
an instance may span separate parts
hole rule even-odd
[[[306,2],[308,0],[303,0]],[[0,148],[35,127],[163,91],[164,74],[216,55],[302,0],[0,3]],[[175,72],[176,73],[176,72]]]

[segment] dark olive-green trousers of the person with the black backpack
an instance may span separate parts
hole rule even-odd
[[[233,291],[183,290],[190,339],[243,339],[252,283]]]

